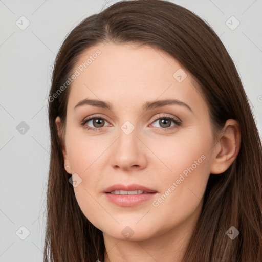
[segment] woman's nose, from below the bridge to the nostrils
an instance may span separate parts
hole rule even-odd
[[[120,129],[119,137],[112,147],[111,165],[115,169],[140,170],[147,165],[146,146],[137,129],[126,134]]]

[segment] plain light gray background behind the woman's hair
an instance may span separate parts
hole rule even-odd
[[[0,1],[0,262],[43,260],[53,62],[64,37],[81,20],[115,2]],[[261,134],[262,1],[170,2],[198,14],[220,36]],[[28,22],[21,16],[30,23],[25,29]],[[240,23],[236,28],[231,16]]]

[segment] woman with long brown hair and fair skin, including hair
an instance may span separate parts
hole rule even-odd
[[[262,259],[261,142],[223,43],[176,4],[122,1],[56,57],[45,261]]]

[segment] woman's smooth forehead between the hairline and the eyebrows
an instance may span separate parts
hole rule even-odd
[[[75,65],[69,105],[84,98],[142,101],[174,98],[200,103],[200,87],[182,65],[166,52],[149,45],[104,43],[85,50]]]

